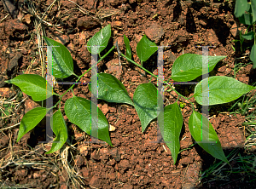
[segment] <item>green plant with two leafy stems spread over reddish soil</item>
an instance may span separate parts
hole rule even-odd
[[[90,38],[87,43],[87,48],[91,54],[100,54],[102,50],[107,46],[108,40],[111,36],[110,25],[104,27],[101,31],[98,31],[93,37]],[[49,46],[58,46],[58,48],[53,48],[53,76],[55,78],[66,78],[71,75],[76,76],[73,73],[73,60],[70,53],[61,43],[57,43],[48,37],[44,37],[45,42]],[[152,72],[149,72],[142,65],[137,64],[137,62],[131,60],[131,47],[130,42],[127,37],[124,36],[126,55],[119,52],[119,54],[125,57],[134,65],[143,69],[143,71],[148,72],[152,77],[156,77]],[[92,47],[98,46],[95,50]],[[154,47],[155,46],[155,47]],[[108,50],[106,54],[102,56],[98,62],[104,59],[115,47],[113,46]],[[157,47],[153,42],[150,42],[148,37],[143,36],[142,40],[137,44],[137,55],[141,62],[148,60],[154,52],[157,51]],[[226,56],[209,56],[208,71],[211,72],[216,66],[219,60],[223,60]],[[91,67],[90,67],[91,69]],[[80,78],[84,76],[85,73],[89,72],[88,69],[81,76],[78,77],[76,82],[79,82]],[[175,60],[172,66],[172,79],[176,82],[189,82],[194,80],[196,77],[202,74],[202,55],[199,54],[183,54]],[[138,117],[142,124],[142,131],[148,127],[148,124],[154,120],[156,117],[164,117],[159,120],[160,132],[163,139],[166,141],[166,145],[170,148],[172,152],[173,162],[177,161],[177,154],[180,150],[179,136],[183,126],[183,116],[180,108],[183,108],[181,103],[179,106],[177,102],[165,106],[163,112],[158,111],[158,91],[153,83],[142,83],[137,86],[133,94],[133,100],[129,97],[125,86],[116,77],[107,73],[98,73],[94,75],[91,79],[96,79],[98,81],[98,91],[92,90],[93,95],[97,95],[98,99],[106,100],[112,103],[125,103],[130,106],[134,106]],[[169,80],[168,80],[169,81]],[[173,89],[172,85],[166,81],[162,81],[166,85],[175,91],[180,97],[188,100],[192,107],[192,113],[189,117],[189,131],[195,141],[208,153],[210,153],[214,158],[218,158],[226,163],[228,163],[227,158],[224,156],[224,152],[218,140],[218,135],[212,127],[207,117],[204,117],[199,112],[195,112],[194,103],[192,103],[189,98],[179,94],[176,89]],[[32,96],[32,100],[40,101],[49,98],[52,91],[52,87],[46,82],[44,77],[38,75],[23,74],[15,77],[8,81],[8,83],[13,83],[20,87],[20,89]],[[47,83],[47,84],[46,84]],[[206,85],[202,83],[208,83],[208,89],[205,88]],[[64,94],[67,94],[69,90],[72,90],[75,84],[73,84]],[[47,87],[46,87],[47,86]],[[194,97],[198,104],[203,104],[203,99],[208,98],[209,106],[224,104],[232,100],[236,100],[242,94],[248,93],[250,90],[255,89],[253,86],[241,83],[231,77],[214,76],[207,77],[203,79],[200,83],[195,86]],[[73,91],[73,90],[72,90]],[[167,90],[168,91],[168,90]],[[97,93],[97,94],[96,94]],[[55,94],[55,92],[53,93]],[[56,108],[61,104],[61,98],[64,94],[55,94],[60,97],[60,100],[52,106],[51,108]],[[160,99],[161,100],[161,99]],[[92,103],[90,100],[86,100],[81,97],[77,97],[73,94],[73,97],[65,102],[64,111],[67,118],[71,123],[79,126],[80,129],[84,130],[88,135],[92,135],[90,125],[91,123],[96,123],[97,120],[90,120],[90,113],[92,106],[96,107],[96,104]],[[97,107],[96,107],[97,108]],[[25,135],[28,131],[33,129],[46,115],[50,108],[37,107],[27,112],[20,122],[20,130],[18,134],[17,141]],[[102,113],[100,109],[98,111],[98,135],[92,135],[100,140],[106,141],[110,146],[113,146],[108,133],[108,120]],[[61,149],[61,146],[67,140],[67,126],[63,119],[61,110],[58,109],[52,116],[52,129],[56,135],[55,141],[59,143],[53,143],[52,148],[49,152],[56,152]],[[202,142],[202,136],[208,136],[208,142]]]

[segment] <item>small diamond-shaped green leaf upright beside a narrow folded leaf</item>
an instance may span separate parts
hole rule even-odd
[[[151,42],[146,35],[137,43],[137,56],[141,61],[148,60],[156,51],[156,44]]]

